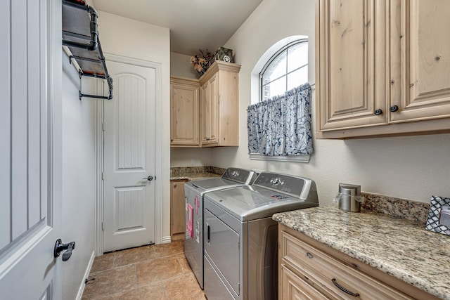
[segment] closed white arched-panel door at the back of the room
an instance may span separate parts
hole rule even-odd
[[[155,69],[108,60],[108,71],[103,252],[155,242]]]

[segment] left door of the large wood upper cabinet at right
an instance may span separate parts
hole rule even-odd
[[[319,130],[387,124],[385,0],[319,0]]]

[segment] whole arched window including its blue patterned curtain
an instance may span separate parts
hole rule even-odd
[[[308,48],[307,36],[285,37],[253,68],[247,108],[250,159],[309,162],[314,150],[308,82],[314,72],[308,74]]]

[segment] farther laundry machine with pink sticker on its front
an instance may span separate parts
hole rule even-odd
[[[186,240],[184,255],[203,289],[203,197],[206,193],[222,188],[249,185],[255,181],[254,171],[228,168],[218,178],[188,181],[184,184],[186,205]]]

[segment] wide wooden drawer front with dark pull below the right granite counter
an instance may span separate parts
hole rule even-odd
[[[355,299],[350,293],[359,294],[358,299],[413,299],[284,231],[281,243],[281,263],[314,282],[329,299]]]

